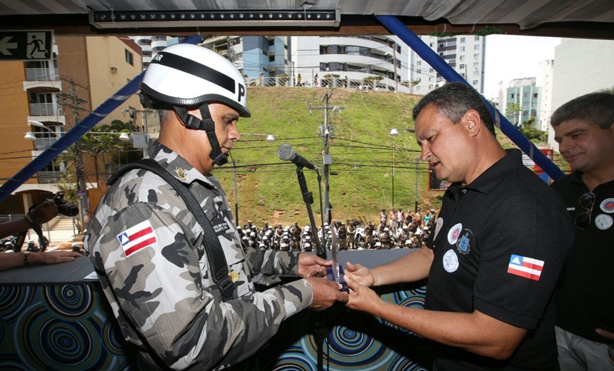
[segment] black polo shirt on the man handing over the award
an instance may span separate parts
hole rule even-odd
[[[518,150],[468,185],[451,185],[427,242],[426,309],[474,310],[529,330],[505,361],[442,347],[438,370],[558,370],[550,298],[573,240],[558,195]]]

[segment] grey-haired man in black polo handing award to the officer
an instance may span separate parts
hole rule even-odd
[[[573,239],[563,203],[503,150],[470,86],[428,93],[413,118],[421,158],[452,185],[426,247],[373,269],[348,263],[348,307],[440,343],[439,371],[558,370],[550,299]],[[427,277],[426,310],[368,288]]]

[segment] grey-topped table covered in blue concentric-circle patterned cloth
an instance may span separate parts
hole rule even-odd
[[[393,251],[344,251],[342,258],[374,266],[407,252]],[[86,278],[93,272],[85,257],[0,272],[0,370],[136,370],[134,346],[121,335],[96,278]],[[377,291],[383,300],[423,308],[426,287]],[[430,370],[432,363],[421,337],[335,305],[284,322],[258,352],[257,367],[316,371],[318,342],[323,370]]]

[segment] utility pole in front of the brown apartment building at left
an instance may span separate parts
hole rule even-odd
[[[80,106],[81,103],[89,103],[85,99],[81,99],[76,95],[76,86],[80,88],[87,89],[87,86],[81,86],[74,82],[71,79],[67,80],[66,78],[61,78],[62,80],[70,83],[71,85],[71,93],[58,93],[58,96],[62,99],[59,100],[59,104],[61,106],[69,107],[73,111],[73,125],[76,126],[81,119],[79,118],[79,111],[87,111],[90,110],[88,108],[83,108]],[[71,101],[69,103],[69,101]],[[77,196],[79,197],[79,210],[81,211],[79,215],[79,221],[81,222],[81,232],[85,230],[89,223],[89,197],[87,195],[87,185],[85,179],[85,167],[83,162],[83,153],[81,152],[81,139],[75,142],[75,173],[77,178]]]

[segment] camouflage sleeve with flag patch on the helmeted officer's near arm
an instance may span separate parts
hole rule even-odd
[[[198,259],[186,226],[172,213],[136,203],[111,218],[95,242],[94,259],[104,266],[131,325],[174,370],[240,362],[271,338],[282,320],[311,304],[306,280],[223,302],[211,287],[206,257]],[[151,233],[144,232],[149,227]],[[149,244],[139,245],[139,238]],[[238,279],[249,279],[243,276]]]

